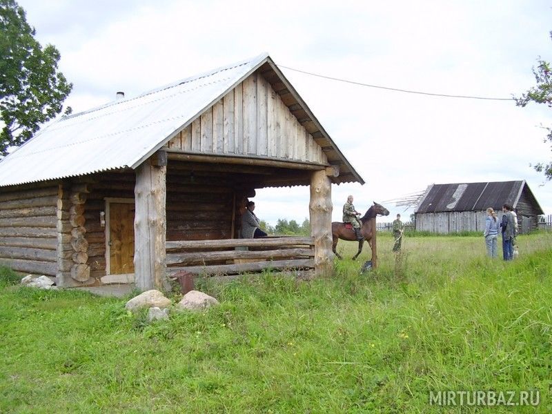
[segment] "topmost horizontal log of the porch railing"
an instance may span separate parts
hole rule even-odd
[[[166,242],[167,250],[230,248],[230,247],[279,247],[313,246],[313,237],[266,237],[262,239],[225,239],[225,240],[183,240]]]

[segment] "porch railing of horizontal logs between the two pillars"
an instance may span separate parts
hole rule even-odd
[[[313,237],[166,242],[168,275],[237,275],[314,268]]]

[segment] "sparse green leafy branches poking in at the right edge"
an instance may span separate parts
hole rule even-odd
[[[550,33],[552,37],[552,32]],[[517,106],[526,106],[527,103],[533,101],[536,103],[544,103],[549,108],[552,107],[552,69],[551,64],[542,59],[538,59],[537,66],[533,66],[533,75],[535,75],[535,81],[537,85],[529,89],[520,98],[516,98],[515,102]],[[548,131],[544,142],[552,142],[552,128],[544,127]],[[552,161],[548,164],[538,163],[533,166],[538,172],[544,172],[546,179],[552,179]]]

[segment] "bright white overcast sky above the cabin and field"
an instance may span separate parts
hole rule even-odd
[[[21,0],[37,39],[61,52],[74,112],[241,61],[275,63],[405,90],[509,98],[552,60],[544,0],[176,1]],[[348,194],[357,210],[429,184],[525,179],[546,214],[552,183],[549,108],[429,97],[282,69],[366,184],[333,186],[333,219]],[[308,217],[308,187],[257,190],[259,217]],[[412,210],[386,204],[391,213]],[[384,219],[387,221],[391,217]]]

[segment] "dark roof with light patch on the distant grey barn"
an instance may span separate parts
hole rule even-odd
[[[536,214],[544,214],[537,199],[524,180],[463,184],[433,184],[428,187],[416,213],[449,211],[482,211],[510,204],[514,208],[523,192],[531,199]]]

